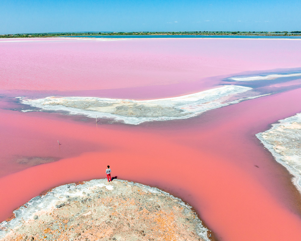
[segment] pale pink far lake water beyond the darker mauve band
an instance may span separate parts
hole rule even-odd
[[[299,45],[294,39],[3,41],[0,89],[116,89],[300,67],[293,54]]]

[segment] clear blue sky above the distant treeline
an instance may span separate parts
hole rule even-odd
[[[300,0],[0,0],[0,33],[301,30]]]

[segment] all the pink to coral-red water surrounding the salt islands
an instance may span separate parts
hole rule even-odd
[[[0,89],[9,96],[168,97],[217,86],[215,76],[300,67],[293,54],[300,50],[298,40],[276,39],[0,42]],[[110,164],[113,176],[188,202],[219,240],[299,240],[300,196],[254,135],[301,112],[300,101],[295,89],[187,120],[96,126],[83,117],[13,111],[17,104],[2,98],[0,220],[45,189],[104,178]],[[60,160],[26,168],[14,162],[22,155]]]

